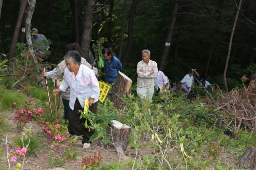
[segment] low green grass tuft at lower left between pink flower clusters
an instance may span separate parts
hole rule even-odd
[[[38,141],[41,141],[41,138],[39,136],[32,136],[32,138],[30,138],[30,143],[28,145],[28,154],[30,153],[33,153],[34,150],[36,150],[37,148],[40,148],[40,142]],[[24,146],[26,147],[27,144],[29,142],[29,138],[25,139],[24,138]],[[15,141],[16,145],[17,146],[20,146],[20,148],[23,147],[23,143],[22,143],[22,138],[16,138],[16,141]]]

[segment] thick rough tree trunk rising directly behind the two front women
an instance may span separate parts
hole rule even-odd
[[[88,0],[84,15],[84,31],[81,42],[81,57],[89,59],[90,42],[92,40],[92,19],[95,0]]]

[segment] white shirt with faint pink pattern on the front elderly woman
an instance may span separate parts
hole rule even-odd
[[[68,87],[70,87],[69,107],[72,110],[74,110],[76,98],[81,107],[84,107],[85,99],[94,98],[94,103],[99,99],[99,82],[92,69],[86,65],[80,65],[76,77],[74,72],[70,72],[68,68],[65,69],[60,89],[65,92]]]

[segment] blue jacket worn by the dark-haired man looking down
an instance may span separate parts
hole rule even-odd
[[[109,83],[116,82],[118,71],[122,71],[122,63],[113,55],[111,55],[110,61],[107,61],[106,59],[103,59],[103,61],[106,69],[106,80]]]

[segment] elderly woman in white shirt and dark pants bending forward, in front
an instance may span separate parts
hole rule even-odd
[[[66,91],[70,87],[70,102],[68,120],[72,132],[82,136],[82,144],[84,148],[91,145],[90,137],[94,131],[84,127],[86,119],[80,119],[81,113],[84,111],[86,99],[89,101],[89,110],[97,115],[98,98],[100,96],[100,86],[92,69],[81,64],[81,56],[78,51],[68,51],[64,56],[67,68],[64,73],[63,81],[59,89],[53,91],[54,95],[60,91]],[[89,121],[87,121],[90,126]]]

